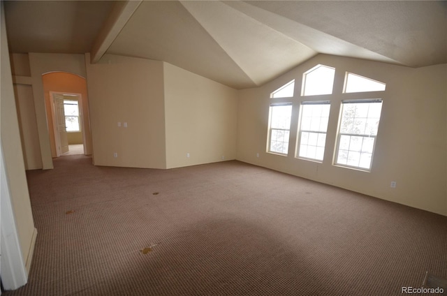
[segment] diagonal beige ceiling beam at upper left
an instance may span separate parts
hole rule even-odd
[[[107,21],[91,47],[91,64],[96,64],[112,45],[142,0],[116,1]]]

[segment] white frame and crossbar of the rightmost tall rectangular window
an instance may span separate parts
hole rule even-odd
[[[376,149],[376,138],[377,138],[377,134],[376,135],[367,135],[367,134],[358,134],[358,133],[342,133],[341,132],[341,124],[343,121],[343,110],[344,110],[344,104],[349,104],[349,103],[382,103],[383,101],[381,98],[375,98],[375,99],[357,99],[357,100],[345,100],[342,101],[342,105],[340,106],[340,116],[339,116],[339,127],[338,127],[338,133],[337,133],[337,143],[335,146],[335,156],[334,156],[334,165],[337,166],[341,166],[344,168],[351,168],[351,169],[355,169],[355,170],[362,170],[365,172],[371,172],[372,169],[372,163],[374,160],[374,152]],[[379,125],[380,125],[380,119],[381,117],[379,117]],[[379,133],[379,127],[377,128],[377,133]],[[372,146],[372,152],[371,152],[371,162],[369,163],[369,168],[362,168],[360,166],[356,166],[356,165],[348,165],[348,164],[344,164],[344,163],[338,163],[338,156],[339,156],[339,150],[340,150],[340,139],[342,138],[342,135],[347,135],[350,137],[362,137],[362,138],[374,138],[374,143]],[[348,150],[350,151],[350,150]],[[361,152],[360,152],[361,154]]]

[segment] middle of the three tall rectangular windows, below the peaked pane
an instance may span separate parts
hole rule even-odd
[[[329,101],[302,103],[297,157],[323,161],[329,110]]]

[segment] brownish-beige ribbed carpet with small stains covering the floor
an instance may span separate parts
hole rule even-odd
[[[238,161],[54,166],[28,172],[34,261],[4,295],[402,295],[447,278],[445,216]]]

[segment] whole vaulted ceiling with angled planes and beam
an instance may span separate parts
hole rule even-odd
[[[446,1],[4,1],[10,52],[167,61],[236,89],[318,53],[447,63]]]

